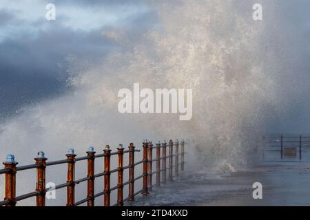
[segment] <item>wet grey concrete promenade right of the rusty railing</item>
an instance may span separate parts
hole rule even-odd
[[[254,199],[254,182],[262,199]],[[309,162],[264,162],[230,175],[184,173],[134,206],[310,206]]]

